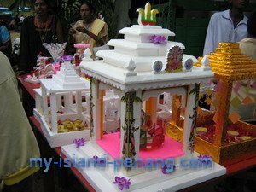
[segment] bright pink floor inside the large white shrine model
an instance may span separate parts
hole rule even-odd
[[[96,141],[96,143],[112,158],[120,157],[120,139],[119,132],[110,133],[102,136],[101,140]],[[165,136],[165,143],[161,148],[154,150],[140,150],[139,157],[142,159],[147,158],[176,158],[182,156],[183,149],[182,143]]]

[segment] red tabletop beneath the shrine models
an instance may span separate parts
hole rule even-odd
[[[24,81],[24,77],[19,77],[18,80],[20,81],[20,84],[22,84],[22,86],[26,89],[26,91],[31,95],[33,96],[34,98],[34,92],[32,89],[36,89],[36,88],[39,88],[40,87],[40,84],[31,84],[31,83],[27,83]],[[38,122],[37,119],[35,119],[33,116],[30,117],[30,120],[32,122],[32,124],[35,126],[35,128],[39,131],[39,133],[44,136],[43,134],[43,131],[41,129],[41,126],[40,126],[40,123]],[[46,139],[45,139],[46,141]],[[42,147],[42,146],[41,146]],[[44,146],[43,146],[44,147]],[[53,150],[55,151],[56,154],[58,155],[61,155],[62,158],[66,158],[66,155],[63,154],[61,152],[61,147],[58,147],[58,148],[53,148]],[[241,162],[238,162],[236,164],[233,164],[233,165],[230,165],[230,166],[226,166],[226,169],[227,169],[227,173],[224,175],[224,176],[221,176],[221,177],[216,177],[212,180],[208,180],[206,182],[203,182],[203,183],[199,183],[197,185],[194,185],[192,187],[189,187],[187,189],[183,189],[183,190],[180,190],[180,191],[189,191],[191,189],[195,189],[195,188],[198,188],[202,185],[206,185],[208,183],[212,183],[212,182],[217,182],[219,181],[220,179],[224,179],[224,177],[229,177],[230,175],[232,174],[235,174],[237,172],[241,172],[241,171],[245,171],[249,168],[252,168],[253,166],[256,166],[256,156],[251,158],[251,159],[247,159],[247,160],[242,160]],[[90,191],[96,191],[95,189],[93,189],[93,187],[90,185],[90,183],[82,176],[82,174],[79,172],[78,169],[76,169],[75,167],[71,167],[70,168],[71,171],[73,172],[73,175],[75,177],[78,178],[79,182],[86,188],[86,189],[89,189]]]

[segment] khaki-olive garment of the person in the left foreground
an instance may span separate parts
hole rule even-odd
[[[28,159],[40,157],[40,152],[37,139],[20,102],[15,73],[8,58],[2,53],[0,61],[0,180],[7,185],[14,185],[38,171],[38,167],[29,166]],[[17,152],[18,159],[14,155]],[[17,191],[16,189],[9,191]]]

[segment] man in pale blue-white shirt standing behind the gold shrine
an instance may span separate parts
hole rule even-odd
[[[210,54],[219,42],[238,42],[247,38],[247,16],[243,10],[249,0],[229,0],[231,8],[212,15],[207,29],[203,55]]]

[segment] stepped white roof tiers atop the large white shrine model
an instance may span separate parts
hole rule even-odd
[[[97,56],[102,57],[104,63],[118,67],[126,76],[136,75],[137,73],[152,72],[154,61],[161,61],[166,67],[167,50],[173,46],[185,49],[182,43],[166,40],[166,44],[154,44],[151,37],[154,35],[163,36],[166,39],[175,36],[168,29],[161,26],[131,26],[119,31],[124,34],[124,39],[112,39],[108,42],[114,50],[102,50],[97,52]],[[194,56],[183,55],[183,61],[191,58],[196,61]],[[113,72],[115,73],[115,72]]]

